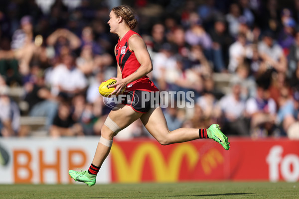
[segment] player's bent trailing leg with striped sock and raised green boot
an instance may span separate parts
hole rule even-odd
[[[226,150],[229,149],[227,137],[220,131],[218,124],[213,124],[208,129],[178,128],[169,131],[160,107],[151,108],[149,112],[143,114],[140,119],[149,133],[162,145],[186,142],[199,138],[212,138],[220,143]]]

